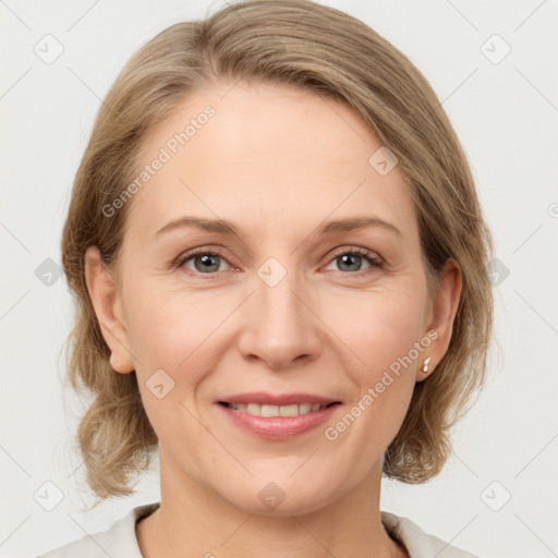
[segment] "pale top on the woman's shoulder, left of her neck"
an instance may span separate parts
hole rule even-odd
[[[135,535],[135,524],[158,507],[159,502],[154,502],[133,508],[107,531],[87,534],[78,541],[49,550],[37,558],[107,558],[107,556],[142,558]]]

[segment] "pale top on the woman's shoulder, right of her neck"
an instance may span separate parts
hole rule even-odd
[[[440,556],[444,558],[478,558],[474,554],[466,553],[435,535],[425,533],[416,523],[409,518],[403,518],[381,511],[381,522],[395,538],[398,538],[407,547],[411,558],[432,558]]]

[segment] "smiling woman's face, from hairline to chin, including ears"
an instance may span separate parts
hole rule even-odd
[[[190,97],[147,136],[121,291],[95,288],[93,251],[88,284],[113,367],[136,371],[163,485],[301,513],[379,484],[458,290],[430,299],[380,148],[350,108],[271,85]],[[223,404],[239,398],[250,407]],[[337,403],[305,414],[319,401]]]

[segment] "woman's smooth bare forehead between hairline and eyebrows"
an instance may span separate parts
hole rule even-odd
[[[181,214],[304,230],[335,214],[414,220],[396,167],[371,165],[381,142],[349,106],[289,85],[222,85],[196,93],[145,137],[149,175],[129,217],[156,230]],[[384,148],[385,149],[385,148]],[[374,160],[374,157],[373,157]]]

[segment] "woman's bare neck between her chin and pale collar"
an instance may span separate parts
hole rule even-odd
[[[378,465],[349,493],[300,514],[251,513],[172,466],[161,466],[160,506],[136,525],[142,555],[259,558],[265,548],[269,558],[405,558],[381,524]]]

